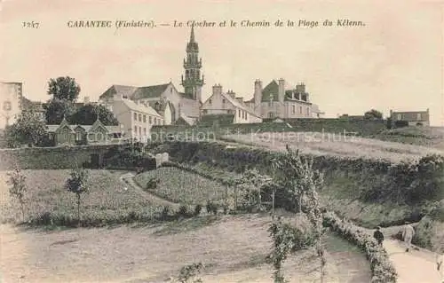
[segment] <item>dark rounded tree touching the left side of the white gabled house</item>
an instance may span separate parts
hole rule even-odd
[[[119,125],[114,114],[107,107],[93,105],[85,105],[78,108],[75,114],[69,117],[69,122],[79,125],[92,125],[98,118],[105,126]]]

